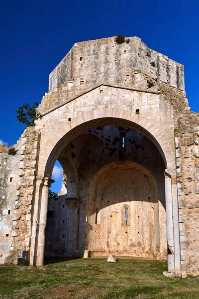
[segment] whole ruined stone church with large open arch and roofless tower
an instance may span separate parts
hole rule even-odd
[[[76,43],[17,153],[1,146],[0,263],[112,253],[199,274],[199,114],[184,66],[129,40]],[[48,199],[56,160],[62,189]]]

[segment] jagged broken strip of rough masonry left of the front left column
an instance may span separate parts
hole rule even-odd
[[[12,170],[15,176],[14,196],[8,190],[8,202],[11,200],[14,208],[11,213],[13,220],[12,226],[10,226],[11,242],[9,254],[4,263],[26,264],[29,261],[32,196],[34,195],[35,170],[38,160],[37,142],[38,134],[33,128],[25,129],[17,142],[17,161]],[[12,161],[11,165],[13,165]]]

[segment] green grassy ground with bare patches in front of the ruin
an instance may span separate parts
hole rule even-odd
[[[166,278],[166,262],[52,262],[38,268],[1,265],[0,299],[199,299],[199,277]]]

